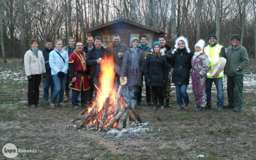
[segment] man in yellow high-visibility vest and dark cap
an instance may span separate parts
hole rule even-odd
[[[219,58],[223,57],[227,59],[225,48],[222,45],[217,44],[217,37],[215,34],[210,34],[208,36],[209,45],[204,47],[203,51],[208,56],[210,60],[210,70],[207,73],[206,80],[206,95],[207,95],[207,106],[206,108],[211,108],[211,89],[212,83],[214,82],[217,89],[217,111],[223,111],[224,106],[224,95],[223,95],[223,82],[222,77],[224,77],[223,71],[219,74],[217,78],[213,78],[210,76],[211,71],[214,67],[214,64],[219,60]]]

